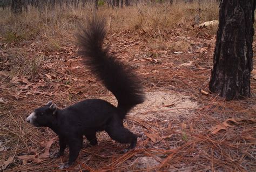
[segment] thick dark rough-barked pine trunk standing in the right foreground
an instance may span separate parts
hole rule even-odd
[[[250,97],[254,0],[223,0],[210,91],[228,100]]]

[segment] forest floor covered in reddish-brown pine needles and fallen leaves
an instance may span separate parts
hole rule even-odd
[[[136,149],[98,133],[98,146],[80,151],[69,170],[90,171],[255,171],[256,72],[252,97],[226,101],[210,93],[215,34],[212,28],[177,25],[164,39],[147,39],[144,30],[113,29],[105,44],[143,80],[146,101],[124,125],[139,135]],[[0,167],[10,171],[58,170],[57,135],[26,123],[33,109],[52,100],[64,108],[87,98],[116,105],[111,92],[82,65],[75,43],[57,50],[49,42],[4,43],[0,37]],[[253,43],[255,52],[256,43]],[[253,61],[254,66],[255,59]],[[15,72],[16,68],[22,72]]]

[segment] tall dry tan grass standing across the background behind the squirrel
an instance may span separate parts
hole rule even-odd
[[[190,25],[194,18],[199,15],[201,22],[218,19],[218,4],[216,3],[178,3],[174,5],[142,5],[129,6],[123,9],[111,9],[100,7],[99,12],[111,18],[111,28],[120,27],[129,30],[143,30],[149,38],[164,36],[168,30],[178,24]],[[200,10],[198,10],[200,9]],[[77,8],[64,6],[50,9],[45,7],[38,10],[29,6],[27,12],[16,16],[7,10],[0,11],[3,16],[0,19],[1,36],[5,42],[17,42],[24,39],[35,39],[35,37],[47,38],[49,42],[58,38],[72,35],[77,25],[84,18],[91,15],[91,5],[78,5]],[[49,37],[52,37],[50,39]],[[55,47],[55,44],[53,44]]]

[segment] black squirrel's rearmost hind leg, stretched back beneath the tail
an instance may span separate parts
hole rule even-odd
[[[116,140],[119,143],[130,143],[129,149],[133,149],[137,144],[137,135],[130,132],[129,129],[123,126],[109,126],[106,129],[107,134],[111,139]]]

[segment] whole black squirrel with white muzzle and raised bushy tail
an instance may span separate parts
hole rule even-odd
[[[105,19],[94,16],[87,19],[87,27],[78,35],[79,54],[83,62],[104,86],[117,98],[117,107],[100,99],[87,99],[65,109],[57,108],[48,102],[35,109],[26,119],[36,127],[50,127],[59,137],[59,152],[62,156],[69,146],[69,161],[60,168],[70,167],[83,144],[83,135],[90,145],[97,145],[96,132],[105,130],[109,136],[120,143],[130,143],[136,147],[137,136],[124,128],[123,119],[127,112],[144,101],[144,92],[139,78],[131,68],[125,66],[103,47],[106,36]]]

